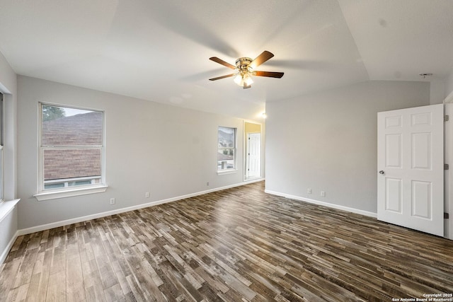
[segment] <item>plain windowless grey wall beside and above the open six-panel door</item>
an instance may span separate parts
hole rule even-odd
[[[266,191],[376,213],[377,112],[421,105],[428,82],[368,81],[267,103]]]

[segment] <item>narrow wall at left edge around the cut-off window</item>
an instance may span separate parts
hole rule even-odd
[[[16,199],[16,112],[17,81],[16,73],[11,69],[3,54],[0,53],[0,92],[7,93],[4,98],[4,188],[7,201]],[[0,255],[5,255],[18,230],[17,208],[11,209],[0,204]],[[8,214],[6,214],[6,212]],[[0,259],[1,263],[1,259]]]

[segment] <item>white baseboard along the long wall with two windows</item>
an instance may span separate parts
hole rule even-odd
[[[98,218],[105,217],[105,216],[125,213],[127,211],[134,211],[134,210],[137,210],[137,209],[143,209],[143,208],[147,208],[147,207],[152,207],[152,206],[156,206],[157,204],[166,204],[168,202],[176,202],[177,200],[180,200],[180,199],[186,199],[186,198],[195,197],[195,196],[199,196],[199,195],[203,195],[203,194],[207,194],[207,193],[211,193],[211,192],[226,190],[226,189],[229,189],[231,187],[240,187],[241,185],[248,185],[248,184],[250,184],[252,182],[260,182],[262,180],[264,180],[264,178],[258,178],[256,180],[248,180],[246,182],[240,182],[240,183],[237,183],[237,184],[234,184],[234,185],[227,185],[225,187],[216,187],[214,189],[200,191],[200,192],[195,192],[195,193],[186,194],[186,195],[182,195],[182,196],[178,196],[178,197],[171,197],[171,198],[168,198],[168,199],[157,200],[155,202],[149,202],[147,204],[138,204],[137,206],[133,206],[133,207],[126,207],[126,208],[122,208],[122,209],[115,209],[113,211],[105,211],[105,212],[92,214],[92,215],[88,215],[88,216],[81,216],[81,217],[76,217],[76,218],[73,218],[73,219],[67,219],[67,220],[63,220],[63,221],[56,221],[56,222],[52,222],[52,223],[42,224],[40,226],[33,226],[31,228],[23,228],[21,230],[18,230],[18,236],[22,236],[22,235],[30,234],[30,233],[35,233],[35,232],[40,232],[40,231],[45,231],[45,230],[48,230],[50,228],[58,228],[60,226],[67,226],[67,225],[72,224],[72,223],[78,223],[78,222],[87,221],[87,220],[91,220],[91,219],[98,219]]]

